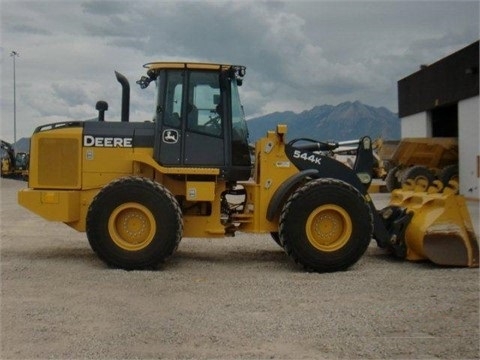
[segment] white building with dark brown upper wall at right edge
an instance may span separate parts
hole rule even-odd
[[[458,137],[460,194],[480,199],[479,42],[398,81],[402,138]]]

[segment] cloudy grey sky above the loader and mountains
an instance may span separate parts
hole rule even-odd
[[[115,70],[131,120],[151,120],[155,88],[135,81],[152,61],[245,65],[247,118],[357,100],[397,112],[398,80],[479,39],[479,3],[0,0],[0,138],[94,118],[98,100],[119,121]]]

